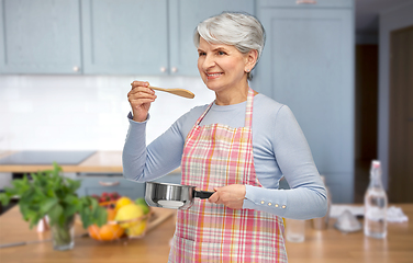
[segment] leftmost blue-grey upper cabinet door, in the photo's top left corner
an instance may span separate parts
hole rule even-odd
[[[0,73],[81,73],[79,1],[0,0]]]

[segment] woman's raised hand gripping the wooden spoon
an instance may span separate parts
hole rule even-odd
[[[155,92],[149,89],[149,82],[147,81],[133,81],[131,83],[132,89],[127,93],[127,100],[132,107],[133,121],[145,122],[147,114],[156,99]]]

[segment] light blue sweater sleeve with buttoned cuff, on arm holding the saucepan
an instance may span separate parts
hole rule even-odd
[[[271,144],[275,161],[290,190],[247,185],[244,208],[293,219],[323,217],[327,211],[325,186],[306,139],[291,110],[286,105],[277,113]]]

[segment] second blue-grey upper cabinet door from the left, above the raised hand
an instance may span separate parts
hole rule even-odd
[[[82,0],[85,73],[167,75],[167,0]]]

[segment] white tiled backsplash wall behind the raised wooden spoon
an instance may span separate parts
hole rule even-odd
[[[148,142],[188,110],[214,99],[198,77],[0,76],[0,152],[122,150],[133,80],[196,94],[189,100],[157,92]]]

